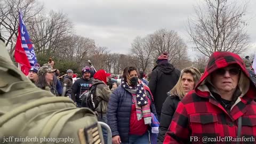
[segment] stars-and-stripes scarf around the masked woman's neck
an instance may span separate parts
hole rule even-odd
[[[136,90],[136,95],[132,94],[132,99],[135,101],[137,120],[139,121],[143,117],[145,124],[151,124],[151,111],[144,85],[139,81],[137,86],[132,87],[122,81],[121,86],[129,92],[131,90]]]

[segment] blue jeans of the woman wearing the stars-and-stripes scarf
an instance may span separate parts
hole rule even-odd
[[[143,135],[134,135],[134,134],[129,135],[129,144],[148,144],[148,143],[149,143],[148,132],[146,132]]]

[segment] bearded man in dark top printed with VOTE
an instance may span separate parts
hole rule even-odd
[[[92,86],[93,78],[90,78],[90,71],[90,67],[84,67],[82,69],[82,78],[77,79],[71,88],[71,99],[76,102],[77,107],[81,107],[82,98],[80,98],[80,95],[85,91],[88,91]]]

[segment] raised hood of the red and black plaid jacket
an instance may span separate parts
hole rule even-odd
[[[250,74],[248,70],[246,69],[243,60],[239,55],[231,52],[214,52],[212,56],[209,59],[209,62],[205,68],[204,74],[195,86],[195,91],[198,95],[202,96],[198,90],[201,91],[209,91],[205,90],[204,83],[206,81],[210,81],[210,75],[213,73],[213,71],[219,69],[219,68],[225,68],[229,65],[236,64],[241,68],[241,71],[243,72],[240,75],[238,87],[242,91],[242,96],[250,91],[250,93],[254,93],[254,97],[256,96],[256,87],[253,85],[253,81],[250,77]],[[250,83],[248,82],[250,81]],[[252,95],[252,94],[250,94]],[[250,96],[249,95],[249,96]],[[252,97],[253,98],[253,97]]]

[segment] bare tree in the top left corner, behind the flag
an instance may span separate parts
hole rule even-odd
[[[43,6],[35,0],[1,0],[0,1],[0,23],[1,33],[6,40],[5,45],[9,47],[10,53],[14,51],[14,43],[18,37],[19,10],[23,20],[27,24],[43,10]],[[28,28],[28,30],[30,30]],[[9,45],[11,43],[11,45]]]

